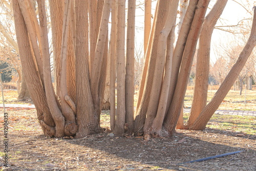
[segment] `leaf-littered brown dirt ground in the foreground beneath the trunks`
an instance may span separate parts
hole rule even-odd
[[[113,136],[106,127],[105,133],[82,139],[48,138],[35,110],[8,114],[9,167],[2,166],[2,144],[0,170],[256,170],[256,135],[207,128],[177,130],[174,137],[144,141]],[[236,151],[243,152],[179,164]]]

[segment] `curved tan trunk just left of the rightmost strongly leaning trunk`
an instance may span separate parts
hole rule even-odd
[[[195,76],[195,88],[191,113],[187,120],[187,125],[191,126],[206,106],[208,92],[208,77],[210,69],[210,41],[214,27],[222,11],[226,6],[227,0],[216,2],[211,11],[204,19],[202,30],[199,36],[199,49],[197,55],[197,66]]]

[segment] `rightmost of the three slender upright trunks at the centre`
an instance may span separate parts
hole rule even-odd
[[[127,134],[133,131],[134,122],[134,42],[135,42],[135,8],[136,1],[128,1],[127,42],[125,65],[125,122],[128,123]]]

